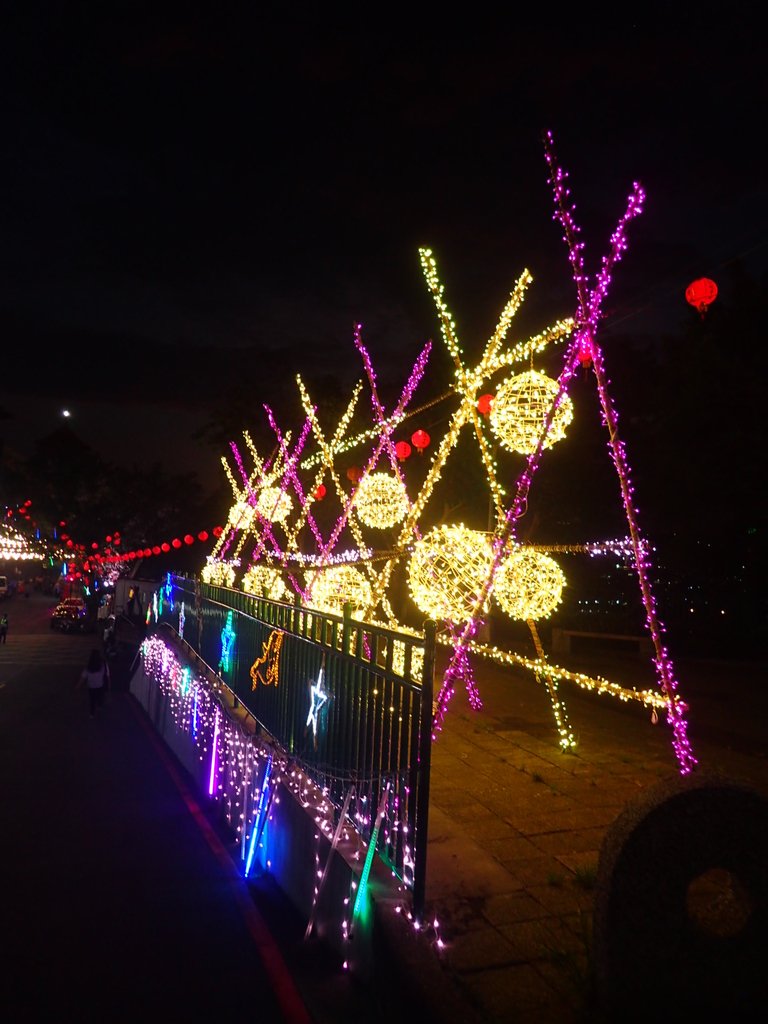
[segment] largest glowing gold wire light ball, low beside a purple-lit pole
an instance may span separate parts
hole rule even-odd
[[[416,543],[409,560],[409,586],[416,606],[437,621],[468,622],[493,558],[484,534],[464,525],[435,526]],[[485,600],[478,610],[487,610],[487,605]]]

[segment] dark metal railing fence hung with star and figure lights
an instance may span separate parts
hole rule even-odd
[[[435,627],[423,635],[169,574],[156,621],[328,796],[424,905]]]

